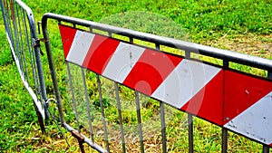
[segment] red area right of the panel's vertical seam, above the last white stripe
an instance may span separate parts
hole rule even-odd
[[[272,91],[272,82],[225,71],[224,124]]]

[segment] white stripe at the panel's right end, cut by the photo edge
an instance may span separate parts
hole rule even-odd
[[[224,125],[250,139],[272,143],[272,91]]]

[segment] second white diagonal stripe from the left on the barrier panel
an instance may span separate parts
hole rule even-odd
[[[139,46],[119,43],[102,75],[113,81],[123,82],[144,50],[144,48]]]

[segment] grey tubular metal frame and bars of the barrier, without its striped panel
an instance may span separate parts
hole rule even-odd
[[[263,58],[259,58],[259,57],[255,57],[255,56],[250,56],[247,54],[242,54],[242,53],[235,53],[235,52],[230,52],[230,51],[226,51],[226,50],[221,50],[221,49],[217,49],[217,48],[213,48],[213,47],[209,47],[209,46],[204,46],[204,45],[200,45],[197,43],[188,43],[188,42],[184,42],[184,41],[180,41],[180,40],[175,40],[175,39],[171,39],[171,38],[165,38],[165,37],[160,37],[157,35],[153,35],[150,33],[141,33],[141,32],[135,32],[129,29],[124,29],[124,28],[120,28],[120,27],[115,27],[115,26],[111,26],[108,24],[99,24],[99,23],[94,23],[91,21],[86,21],[86,20],[82,20],[82,19],[78,19],[78,18],[73,18],[70,16],[64,16],[61,14],[51,14],[51,13],[47,13],[44,14],[43,19],[42,19],[42,27],[43,27],[43,33],[44,33],[44,40],[49,40],[49,34],[47,31],[47,20],[48,19],[53,19],[53,20],[57,20],[59,23],[67,23],[67,24],[73,24],[75,25],[82,25],[85,27],[89,27],[92,31],[92,29],[97,29],[97,30],[101,30],[104,32],[109,33],[109,37],[112,37],[112,33],[117,33],[118,35],[123,35],[123,36],[127,36],[130,38],[130,43],[133,43],[133,39],[139,39],[142,41],[146,41],[149,43],[155,43],[156,44],[156,48],[158,50],[160,50],[160,45],[165,45],[165,46],[169,46],[172,48],[177,48],[180,50],[185,51],[186,54],[186,58],[190,59],[190,53],[199,53],[202,55],[207,55],[209,57],[213,57],[213,58],[217,58],[223,61],[223,67],[224,68],[228,68],[228,63],[229,62],[236,62],[236,63],[240,63],[240,64],[245,64],[251,67],[256,67],[262,70],[266,70],[268,73],[268,78],[271,79],[271,72],[272,72],[272,61],[271,60],[267,60],[267,59],[263,59]],[[54,93],[55,93],[55,97],[57,99],[57,107],[59,110],[59,116],[60,116],[60,120],[61,123],[63,125],[64,128],[67,129],[67,127],[69,127],[66,123],[65,120],[63,118],[63,108],[62,108],[62,100],[61,100],[61,95],[60,95],[60,91],[58,89],[58,82],[57,82],[57,78],[56,78],[56,72],[54,69],[54,63],[53,63],[53,53],[51,50],[51,46],[50,43],[48,41],[45,41],[45,48],[46,48],[46,52],[47,52],[47,56],[48,56],[48,62],[49,62],[49,67],[51,70],[51,74],[52,74],[52,78],[53,78],[53,87],[54,87]],[[69,68],[68,68],[69,69]],[[83,75],[84,76],[84,75]],[[102,107],[102,117],[103,117],[103,106],[102,106],[102,94],[101,94],[101,84],[100,84],[100,79],[99,79],[99,75],[97,75],[97,81],[98,81],[98,88],[99,88],[99,95],[100,95],[100,102],[101,102],[101,107]],[[126,148],[125,148],[125,142],[123,139],[123,129],[122,129],[122,123],[121,123],[121,111],[120,111],[120,98],[119,98],[119,93],[118,93],[118,82],[114,82],[114,86],[115,86],[115,91],[116,91],[116,100],[118,103],[118,113],[119,113],[119,120],[120,120],[120,128],[121,128],[121,134],[122,134],[122,138],[121,138],[121,142],[122,142],[122,152],[126,152]],[[86,91],[85,91],[86,93]],[[142,143],[142,133],[141,133],[141,111],[140,111],[140,107],[139,107],[139,95],[138,92],[135,91],[135,98],[136,98],[136,106],[137,106],[137,114],[138,114],[138,129],[139,129],[139,139],[141,142],[141,152],[144,152],[144,147],[143,147],[143,143]],[[89,108],[90,109],[90,108]],[[165,137],[165,123],[164,123],[164,108],[163,108],[163,102],[160,101],[160,119],[161,119],[161,137],[162,137],[162,152],[167,152],[167,144],[166,144],[166,137]],[[194,148],[193,148],[193,120],[192,120],[193,116],[191,114],[188,114],[188,122],[189,122],[189,152],[194,152]],[[90,123],[91,125],[92,123]],[[104,132],[105,132],[105,139],[107,141],[107,151],[109,152],[109,143],[108,143],[108,138],[107,138],[107,129],[106,129],[106,124],[105,121],[103,120],[103,125],[104,125]],[[70,131],[73,130],[75,131],[75,129],[72,129],[71,127],[68,128]],[[83,136],[80,131],[78,132],[79,135]],[[93,134],[91,133],[91,137],[92,140],[90,139],[86,139],[85,136],[83,136],[84,142],[88,143],[92,148],[97,149],[99,152],[103,152],[105,151],[102,148],[97,148],[97,146],[93,146],[94,140],[93,140]],[[92,142],[92,143],[90,143]],[[222,152],[227,152],[228,150],[228,129],[222,128]],[[267,147],[266,145],[263,146],[263,152],[269,152],[269,147]]]

